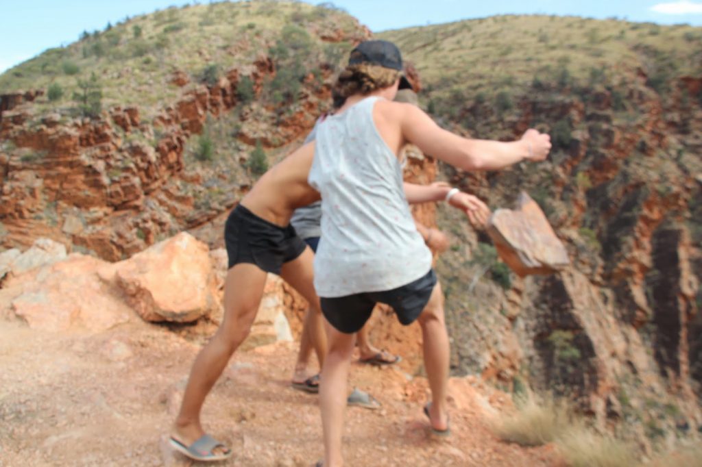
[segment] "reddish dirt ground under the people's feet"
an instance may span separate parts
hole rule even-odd
[[[211,433],[235,449],[215,465],[310,466],[322,456],[317,397],[289,388],[295,344],[234,356],[204,409]],[[164,435],[197,347],[163,327],[48,334],[0,320],[0,466],[187,466]],[[421,412],[426,381],[355,364],[353,384],[382,410],[347,411],[348,466],[555,466],[551,447],[499,442],[486,428],[489,396],[451,384],[449,440]],[[483,392],[481,392],[483,391]],[[487,407],[487,409],[485,408]]]

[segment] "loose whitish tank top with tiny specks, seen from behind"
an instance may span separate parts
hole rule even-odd
[[[367,97],[317,128],[308,182],[323,200],[314,256],[319,297],[392,290],[431,269],[404,196],[402,167],[373,122],[377,100]]]

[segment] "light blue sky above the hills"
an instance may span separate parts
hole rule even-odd
[[[126,16],[207,0],[0,0],[0,73]],[[307,0],[305,3],[319,4]],[[576,15],[702,26],[702,0],[336,0],[373,32],[503,14]]]

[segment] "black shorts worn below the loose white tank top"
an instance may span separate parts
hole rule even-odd
[[[436,283],[437,276],[434,269],[430,269],[425,276],[396,289],[362,292],[344,297],[321,297],[322,313],[336,330],[352,334],[366,324],[376,303],[384,303],[392,306],[402,325],[410,325],[427,306]]]

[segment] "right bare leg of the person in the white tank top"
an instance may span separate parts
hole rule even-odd
[[[432,295],[419,316],[422,327],[424,367],[432,391],[430,421],[437,430],[448,428],[446,392],[449,384],[449,334],[444,322],[444,295],[441,285],[435,285]]]

